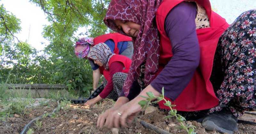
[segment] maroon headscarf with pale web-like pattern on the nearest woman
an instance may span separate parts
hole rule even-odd
[[[113,20],[125,20],[139,24],[140,32],[137,38],[132,38],[134,52],[132,65],[124,84],[124,94],[127,96],[133,81],[140,74],[140,67],[145,63],[145,85],[148,86],[158,71],[159,37],[156,22],[156,11],[162,0],[111,0],[104,18],[106,25],[126,35],[118,29]]]

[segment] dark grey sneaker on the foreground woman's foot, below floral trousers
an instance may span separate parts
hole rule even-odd
[[[237,117],[230,111],[222,109],[204,118],[202,126],[208,131],[218,131],[220,133],[233,134],[237,131]]]

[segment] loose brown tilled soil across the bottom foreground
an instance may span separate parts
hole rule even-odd
[[[46,117],[42,120],[42,126],[39,130],[35,129],[36,134],[111,134],[112,131],[107,128],[98,128],[96,123],[98,115],[113,106],[113,101],[103,100],[100,104],[92,107],[84,107],[82,104],[71,104],[56,113],[56,116]],[[38,105],[36,107],[28,108],[24,115],[17,114],[16,117],[6,118],[5,121],[0,121],[0,133],[18,134],[22,131],[24,126],[32,119],[43,115],[44,113],[51,113],[57,107],[56,101],[49,102],[49,106]],[[144,113],[144,112],[143,112]],[[184,130],[177,129],[179,123],[174,118],[163,119],[166,113],[160,110],[155,110],[148,114],[141,114],[138,116],[140,120],[151,123],[170,133],[186,133]],[[239,119],[247,120],[256,123],[256,115],[244,114]],[[198,134],[217,133],[206,131],[201,123],[195,121],[186,123],[196,126],[195,132]],[[34,124],[32,127],[35,126]],[[140,122],[134,121],[129,127],[121,128],[119,134],[155,134],[153,130],[143,127]],[[237,134],[256,134],[256,126],[238,123]]]

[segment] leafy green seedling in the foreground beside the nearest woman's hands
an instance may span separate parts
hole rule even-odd
[[[164,105],[170,108],[169,115],[165,116],[164,118],[166,119],[166,118],[175,117],[176,120],[178,120],[178,122],[181,124],[181,126],[179,127],[180,129],[186,130],[188,134],[196,134],[196,132],[194,132],[194,129],[196,127],[189,124],[184,125],[186,119],[183,116],[177,114],[176,109],[172,109],[172,107],[175,107],[175,105],[172,105],[171,101],[164,99],[164,87],[162,88],[162,94],[160,94],[159,97],[155,96],[154,93],[152,92],[147,92],[147,95],[148,97],[140,95],[141,97],[147,99],[147,100],[141,100],[139,102],[139,105],[143,109],[146,109],[148,107],[148,105],[151,103],[151,100],[156,99],[156,101],[153,101],[152,103],[158,103],[159,101],[164,100],[165,101]]]

